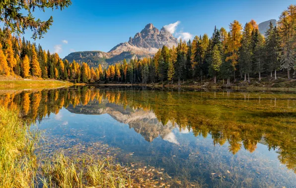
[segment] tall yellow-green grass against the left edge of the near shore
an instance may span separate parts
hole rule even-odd
[[[27,132],[18,112],[0,107],[0,187],[34,186],[37,160],[35,139]]]

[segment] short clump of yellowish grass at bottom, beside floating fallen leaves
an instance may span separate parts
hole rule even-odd
[[[110,159],[87,156],[71,160],[63,152],[53,158],[53,161],[47,160],[42,165],[43,188],[125,188],[134,183],[128,175],[128,168]]]

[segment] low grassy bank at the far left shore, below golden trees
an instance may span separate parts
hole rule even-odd
[[[72,85],[74,84],[71,82],[58,80],[3,80],[0,81],[0,90],[45,89]]]

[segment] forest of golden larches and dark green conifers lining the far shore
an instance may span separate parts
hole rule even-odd
[[[270,23],[267,32],[259,33],[254,20],[242,25],[234,20],[225,28],[214,29],[213,35],[180,40],[177,47],[162,47],[152,58],[124,60],[108,67],[89,67],[86,63],[62,60],[40,45],[14,36],[9,29],[0,31],[0,74],[23,78],[72,80],[76,83],[180,83],[186,80],[237,79],[250,82],[265,77],[277,79],[284,72],[288,79],[296,74],[296,5],[290,5]],[[293,76],[291,75],[293,74]]]

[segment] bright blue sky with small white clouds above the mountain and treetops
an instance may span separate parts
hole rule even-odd
[[[258,24],[279,18],[295,0],[72,0],[64,10],[35,10],[34,16],[54,23],[41,40],[27,40],[65,57],[74,51],[109,51],[127,42],[148,24],[165,26],[176,38],[212,35],[215,25],[229,30],[229,23]]]

